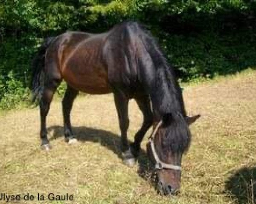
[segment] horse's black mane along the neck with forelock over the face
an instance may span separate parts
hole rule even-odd
[[[152,73],[155,77],[153,85],[149,87],[151,102],[157,107],[161,118],[168,122],[166,135],[162,138],[162,148],[171,149],[172,152],[184,152],[189,147],[191,135],[184,119],[186,111],[174,69],[168,64],[157,41],[145,26],[135,22],[126,22],[125,25],[139,37],[154,64]]]

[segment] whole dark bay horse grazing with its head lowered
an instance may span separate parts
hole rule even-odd
[[[33,61],[32,91],[39,99],[42,141],[49,149],[46,117],[56,88],[64,79],[62,101],[65,140],[75,141],[70,111],[79,91],[113,93],[121,130],[125,164],[132,165],[143,136],[153,125],[148,155],[156,164],[158,190],[175,193],[180,188],[180,165],[191,139],[189,124],[199,116],[186,115],[180,86],[151,34],[136,22],[116,25],[102,34],[66,32],[47,38]],[[142,127],[128,144],[128,100],[134,98],[143,113]]]

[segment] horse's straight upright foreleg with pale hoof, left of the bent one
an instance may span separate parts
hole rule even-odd
[[[119,118],[119,127],[121,130],[121,151],[123,162],[129,166],[132,166],[135,164],[135,159],[133,154],[131,153],[131,149],[129,148],[127,140],[127,130],[129,126],[128,99],[122,93],[114,93],[114,98]]]

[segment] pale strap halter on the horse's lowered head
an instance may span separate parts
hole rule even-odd
[[[157,124],[157,127],[154,129],[154,131],[152,132],[151,136],[149,137],[149,143],[150,143],[150,147],[151,147],[151,151],[153,153],[154,159],[156,160],[156,165],[155,168],[156,169],[173,169],[173,170],[181,170],[180,166],[177,165],[173,165],[173,164],[166,164],[163,163],[159,157],[157,156],[157,152],[156,149],[154,147],[154,136],[157,133],[158,128],[160,127],[160,125],[162,125],[162,120],[160,120],[160,122]]]

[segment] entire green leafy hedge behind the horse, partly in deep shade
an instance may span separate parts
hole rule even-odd
[[[2,0],[0,108],[24,100],[31,59],[44,37],[102,32],[124,20],[151,29],[183,81],[253,67],[255,11],[256,2],[248,0]]]

